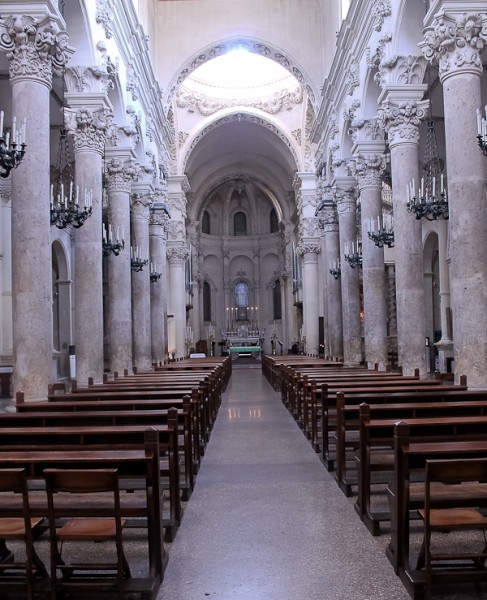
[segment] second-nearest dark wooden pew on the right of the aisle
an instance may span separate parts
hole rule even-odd
[[[434,402],[360,406],[360,443],[356,455],[358,495],[355,509],[372,535],[380,535],[380,523],[390,520],[387,510],[373,510],[371,489],[375,477],[385,493],[394,470],[394,425],[403,420],[410,426],[410,435],[423,435],[424,427],[434,427],[432,439],[455,435],[468,439],[483,434],[487,418],[487,401]],[[432,423],[434,422],[434,425]],[[477,431],[478,430],[478,431]]]

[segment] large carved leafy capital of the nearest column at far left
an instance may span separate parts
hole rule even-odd
[[[0,20],[0,50],[10,62],[10,78],[32,79],[49,88],[52,75],[61,75],[74,48],[54,20],[39,23],[28,15]]]

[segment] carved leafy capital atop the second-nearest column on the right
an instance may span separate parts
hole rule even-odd
[[[389,145],[401,142],[418,143],[419,125],[426,116],[426,102],[412,100],[393,104],[383,102],[377,111],[379,125],[387,131]]]

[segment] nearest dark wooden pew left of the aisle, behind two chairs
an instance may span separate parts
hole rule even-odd
[[[135,497],[134,494],[124,493],[121,498],[122,512],[127,518],[143,520],[147,533],[148,544],[148,575],[133,576],[126,580],[127,594],[142,594],[144,598],[155,600],[164,577],[167,565],[167,553],[163,543],[163,526],[161,515],[161,494],[159,475],[159,441],[157,432],[145,434],[144,444],[138,450],[58,450],[36,449],[35,451],[0,451],[0,468],[25,468],[30,480],[44,480],[45,468],[93,469],[116,468],[120,477],[130,481],[143,482],[144,493]],[[31,492],[29,492],[31,496]],[[45,491],[38,486],[32,492],[30,510],[33,517],[47,514],[47,499]],[[8,502],[0,503],[0,516],[10,516]],[[103,507],[96,501],[87,505],[86,511],[80,516],[104,516]],[[48,580],[39,581],[39,592],[48,591]]]

